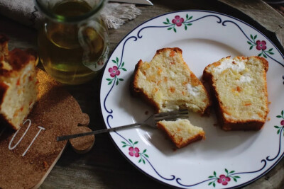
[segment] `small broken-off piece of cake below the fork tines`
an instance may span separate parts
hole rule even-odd
[[[201,127],[194,126],[187,119],[175,121],[159,121],[157,126],[164,130],[176,147],[182,148],[187,144],[205,139],[205,133]]]

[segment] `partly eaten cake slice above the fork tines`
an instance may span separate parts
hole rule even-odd
[[[190,71],[177,47],[157,50],[151,62],[140,60],[131,92],[146,99],[158,113],[187,108],[204,114],[210,105],[202,82]]]

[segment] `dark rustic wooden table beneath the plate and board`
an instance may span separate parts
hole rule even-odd
[[[272,33],[258,25],[249,16],[230,8],[219,1],[191,0],[170,1],[153,0],[154,6],[138,5],[142,13],[133,21],[121,26],[117,30],[109,30],[110,52],[124,36],[137,25],[150,18],[170,11],[185,9],[203,9],[226,13],[240,18],[265,33],[282,50],[280,43]],[[260,10],[261,11],[261,10]],[[13,47],[37,48],[37,31],[27,28],[9,18],[0,16],[0,33],[5,33],[11,39],[10,49]],[[100,111],[99,87],[100,78],[81,86],[66,86],[67,90],[77,99],[82,111],[90,117],[90,127],[94,130],[103,129],[104,120]],[[76,154],[71,147],[67,147],[58,163],[50,172],[40,188],[170,188],[163,183],[154,181],[141,173],[124,159],[116,149],[109,134],[99,134],[94,147],[87,154]],[[284,188],[284,159],[275,168],[245,188]]]

